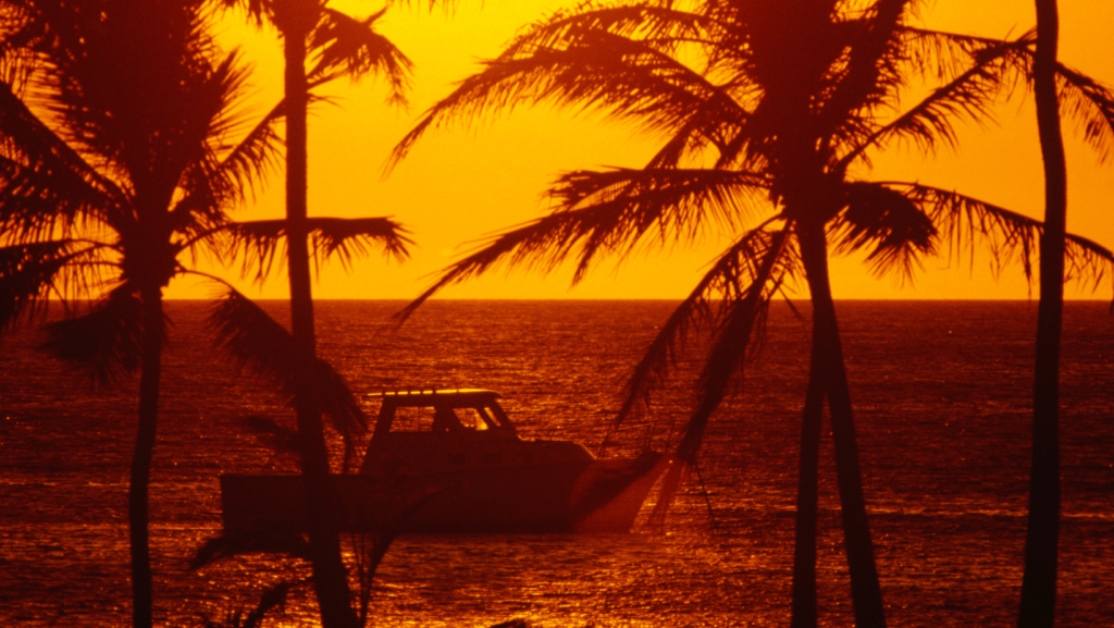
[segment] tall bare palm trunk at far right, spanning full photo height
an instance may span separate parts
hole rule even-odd
[[[1064,231],[1067,174],[1056,97],[1056,0],[1037,0],[1034,95],[1045,170],[1045,229],[1040,238],[1040,306],[1037,310],[1033,385],[1033,468],[1025,576],[1017,625],[1047,628],[1056,611],[1059,543],[1059,337],[1064,311]]]

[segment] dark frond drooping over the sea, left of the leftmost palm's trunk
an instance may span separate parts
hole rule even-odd
[[[48,325],[47,331],[42,349],[86,370],[94,385],[113,386],[139,368],[144,334],[166,329],[144,329],[143,302],[124,284],[86,313]]]

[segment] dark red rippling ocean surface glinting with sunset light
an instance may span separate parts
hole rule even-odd
[[[525,437],[596,450],[667,301],[433,301],[407,325],[391,301],[316,306],[321,354],[353,390],[501,392]],[[281,319],[285,303],[266,307]],[[807,316],[808,303],[799,303]],[[1034,302],[838,303],[890,626],[1006,627],[1018,606],[1030,434]],[[304,566],[244,558],[198,571],[219,532],[217,476],[293,468],[244,428],[291,422],[266,383],[212,348],[204,302],[170,302],[152,485],[156,608],[165,626],[250,609]],[[776,305],[764,348],[714,418],[663,529],[624,535],[414,535],[375,578],[371,625],[786,626],[808,322]],[[125,626],[135,385],[92,390],[0,340],[0,625]],[[695,352],[606,453],[662,447],[691,405]],[[1057,625],[1114,626],[1114,317],[1069,302],[1062,366],[1063,528]],[[369,412],[377,408],[369,405]],[[850,626],[830,438],[821,452],[820,610]],[[703,485],[703,487],[702,487]],[[648,512],[644,509],[643,519]],[[313,626],[305,588],[265,626]]]

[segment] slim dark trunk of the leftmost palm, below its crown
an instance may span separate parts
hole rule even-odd
[[[139,375],[139,426],[131,458],[128,485],[128,542],[131,550],[131,626],[150,628],[154,589],[150,571],[150,464],[158,427],[158,389],[163,357],[163,293],[158,287],[144,289],[143,363]]]

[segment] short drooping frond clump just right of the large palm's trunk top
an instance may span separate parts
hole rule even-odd
[[[877,276],[897,272],[911,281],[922,268],[920,258],[932,254],[936,228],[920,207],[901,192],[885,185],[854,182],[846,186],[847,207],[828,224],[834,251],[847,254],[870,249],[867,263]]]

